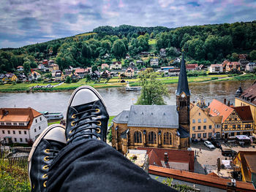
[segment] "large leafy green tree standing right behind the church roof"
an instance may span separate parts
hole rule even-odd
[[[166,85],[157,80],[157,74],[142,72],[140,74],[141,93],[136,104],[165,104],[164,96],[169,96]]]

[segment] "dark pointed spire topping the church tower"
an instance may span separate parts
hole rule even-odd
[[[182,53],[181,58],[181,70],[178,76],[178,88],[176,91],[176,96],[179,96],[182,92],[186,93],[187,96],[190,96],[189,83],[187,82],[187,72],[184,61],[184,53]]]

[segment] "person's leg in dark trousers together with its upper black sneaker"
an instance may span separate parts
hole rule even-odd
[[[67,147],[49,171],[48,191],[172,191],[152,180],[105,143],[108,112],[89,86],[72,93],[67,110]]]

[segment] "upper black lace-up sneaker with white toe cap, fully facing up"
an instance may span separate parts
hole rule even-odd
[[[99,139],[106,142],[108,112],[98,91],[90,86],[77,88],[67,108],[67,145],[81,139]]]

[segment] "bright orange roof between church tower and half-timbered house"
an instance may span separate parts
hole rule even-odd
[[[212,116],[219,116],[222,115],[222,123],[227,119],[227,117],[230,115],[231,112],[233,112],[234,109],[231,107],[228,107],[226,104],[222,104],[221,101],[218,101],[214,99],[211,101],[211,104],[208,106],[210,108],[210,115]]]

